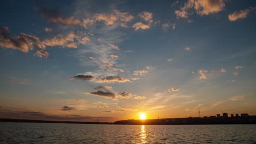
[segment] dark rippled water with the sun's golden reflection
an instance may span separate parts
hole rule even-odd
[[[0,122],[0,143],[256,143],[256,125]]]

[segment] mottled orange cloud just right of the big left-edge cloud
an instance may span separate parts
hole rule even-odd
[[[90,41],[88,35],[84,32],[70,32],[66,35],[58,34],[51,39],[44,39],[43,44],[46,46],[60,46],[76,49],[79,44],[86,44]]]

